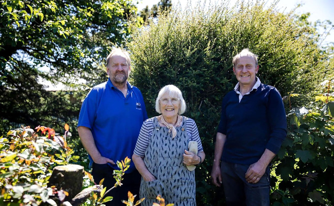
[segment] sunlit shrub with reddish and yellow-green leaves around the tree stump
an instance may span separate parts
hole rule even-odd
[[[66,201],[67,191],[47,185],[53,168],[75,163],[79,159],[79,156],[74,155],[74,150],[67,145],[66,137],[70,136],[69,126],[65,124],[64,128],[63,136],[52,128],[38,126],[35,128],[36,131],[30,127],[23,127],[10,130],[5,137],[0,137],[1,205],[57,206]],[[121,170],[114,172],[117,180],[115,186],[120,186],[122,176],[130,166],[130,159],[126,158],[117,164]],[[86,181],[83,188],[90,189],[92,177],[87,172],[85,175],[88,183]],[[100,185],[102,183],[103,181]],[[97,191],[100,191],[99,194],[96,194]],[[101,205],[112,200],[112,197],[105,197],[105,194],[106,188],[89,193],[89,201],[85,205]],[[133,202],[131,197],[132,194],[129,194],[128,203]]]

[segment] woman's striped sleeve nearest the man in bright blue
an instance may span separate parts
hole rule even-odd
[[[140,129],[136,147],[134,148],[133,153],[141,157],[145,156],[145,151],[147,147],[149,147],[153,129],[154,125],[152,118],[149,118],[146,121],[144,121],[142,128]]]

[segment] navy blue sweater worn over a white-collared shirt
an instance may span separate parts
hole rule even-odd
[[[277,153],[286,137],[286,116],[276,88],[261,84],[243,96],[230,91],[222,102],[218,132],[226,135],[221,160],[250,165],[265,149]]]

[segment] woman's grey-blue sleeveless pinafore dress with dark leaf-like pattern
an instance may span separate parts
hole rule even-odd
[[[152,206],[157,202],[157,195],[165,203],[175,206],[196,206],[195,171],[188,171],[183,164],[184,149],[188,150],[190,141],[186,132],[186,118],[176,127],[177,136],[173,139],[167,127],[161,127],[156,117],[153,118],[154,129],[149,146],[145,151],[144,163],[154,181],[142,178],[140,198],[145,198],[142,206]]]

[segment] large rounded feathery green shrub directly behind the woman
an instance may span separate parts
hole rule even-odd
[[[160,88],[174,84],[187,103],[185,116],[198,126],[206,161],[196,169],[199,205],[222,205],[221,188],[211,184],[213,141],[223,96],[237,83],[232,58],[243,48],[259,55],[259,78],[282,96],[307,94],[323,78],[330,54],[317,44],[315,28],[302,24],[293,11],[279,12],[275,3],[226,1],[162,12],[137,29],[127,44],[132,53],[132,81],[144,97],[149,117]],[[302,101],[297,102],[301,104]],[[295,104],[296,105],[296,104]]]

